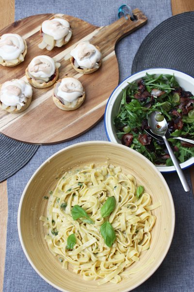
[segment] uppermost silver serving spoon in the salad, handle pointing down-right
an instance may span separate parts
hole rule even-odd
[[[152,111],[152,113],[150,113],[147,117],[147,121],[148,121],[148,126],[150,127],[150,131],[155,134],[155,135],[158,135],[160,137],[162,137],[165,145],[166,145],[166,148],[168,149],[168,152],[170,154],[170,157],[172,159],[172,162],[173,164],[175,165],[175,168],[177,170],[177,173],[178,173],[178,176],[179,176],[179,179],[183,185],[183,188],[185,190],[185,192],[189,192],[190,191],[190,187],[189,187],[189,184],[187,183],[186,179],[185,179],[185,176],[182,172],[182,169],[180,168],[180,165],[178,163],[178,160],[177,158],[175,157],[175,154],[173,153],[173,150],[171,149],[167,139],[166,139],[166,136],[165,136],[165,133],[168,129],[168,125],[166,123],[166,120],[163,120],[161,122],[158,122],[156,120],[156,115],[158,114],[161,114],[160,111]],[[162,115],[162,114],[161,114]]]

